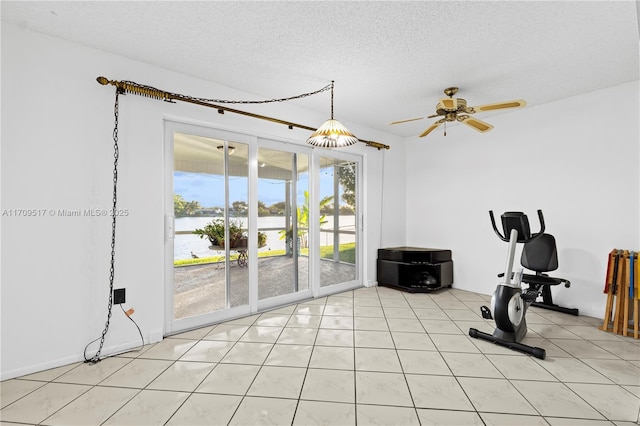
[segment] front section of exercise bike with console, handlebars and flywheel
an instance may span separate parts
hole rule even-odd
[[[527,334],[527,322],[525,319],[527,308],[541,294],[543,285],[529,284],[529,288],[523,289],[521,284],[523,274],[521,272],[513,273],[513,261],[517,244],[528,243],[546,235],[544,234],[545,225],[542,211],[538,210],[540,231],[535,234],[531,233],[529,219],[522,212],[505,212],[502,214],[504,235],[498,231],[493,211],[489,212],[489,216],[496,235],[502,241],[509,243],[509,251],[507,252],[504,274],[499,275],[504,278],[504,281],[498,284],[491,297],[491,310],[486,306],[481,308],[484,318],[495,319],[496,328],[493,334],[470,328],[469,336],[544,359],[546,356],[544,349],[520,343]],[[509,235],[508,238],[507,235]],[[491,312],[493,312],[493,316]]]

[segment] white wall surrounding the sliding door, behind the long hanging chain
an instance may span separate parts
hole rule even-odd
[[[2,217],[2,379],[82,360],[85,345],[104,326],[111,218],[57,214],[58,209],[111,207],[115,88],[96,83],[101,75],[195,96],[256,98],[3,23],[0,208],[43,209],[45,214]],[[309,125],[326,119],[290,103],[245,110]],[[184,103],[120,97],[118,206],[129,216],[117,222],[115,287],[126,288],[127,305],[135,308],[147,342],[161,338],[164,324],[162,120],[167,116],[295,143],[304,143],[309,133]],[[389,145],[399,139],[343,123],[364,139]],[[380,216],[380,188],[384,185],[395,205],[405,202],[401,192],[394,192],[404,182],[401,174],[382,181],[383,157],[391,158],[385,168],[399,167],[404,158],[395,148],[377,151],[358,144],[347,149],[362,154],[367,167],[367,283],[375,281],[380,223],[386,222]],[[403,239],[403,233],[404,226],[397,234]],[[137,333],[114,310],[103,354],[137,344]]]

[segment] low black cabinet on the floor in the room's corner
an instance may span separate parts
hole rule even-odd
[[[378,249],[378,285],[419,293],[451,287],[451,250],[421,247]]]

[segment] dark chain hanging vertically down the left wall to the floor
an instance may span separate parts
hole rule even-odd
[[[111,263],[109,266],[109,305],[107,307],[107,321],[104,325],[104,330],[102,330],[102,335],[95,340],[89,342],[89,344],[84,348],[84,362],[89,362],[95,364],[100,361],[100,353],[102,352],[102,347],[104,346],[104,339],[109,331],[109,323],[111,321],[111,311],[113,309],[113,279],[115,277],[115,260],[116,260],[116,213],[118,211],[118,158],[120,157],[120,150],[118,148],[118,97],[120,95],[120,90],[116,89],[116,101],[113,107],[113,113],[115,116],[114,126],[113,126],[113,206],[111,210]],[[100,347],[96,354],[87,358],[87,348],[91,343],[100,340]],[[144,341],[143,341],[144,342]]]

